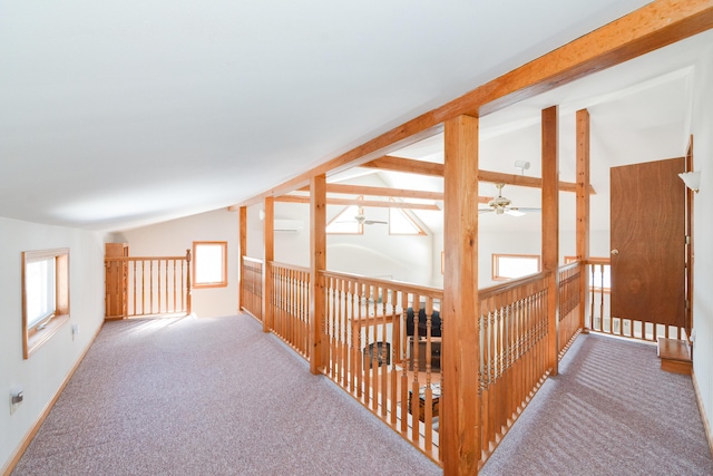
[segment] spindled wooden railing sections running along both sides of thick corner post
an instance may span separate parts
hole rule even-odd
[[[245,259],[244,295],[261,297],[262,262]],[[272,330],[310,358],[310,273],[271,262]],[[578,263],[559,270],[559,340],[580,330]],[[245,269],[244,269],[245,270]],[[481,290],[480,371],[484,464],[549,373],[549,273]],[[385,424],[439,460],[442,290],[322,272],[320,369]],[[247,292],[250,291],[250,292]],[[260,313],[260,305],[255,313]],[[447,324],[447,323],[446,323]],[[416,397],[414,397],[416,396]]]

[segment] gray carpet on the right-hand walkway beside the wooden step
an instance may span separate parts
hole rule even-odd
[[[481,475],[713,475],[691,377],[656,348],[580,336]]]

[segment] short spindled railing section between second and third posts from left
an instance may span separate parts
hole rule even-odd
[[[271,262],[272,330],[304,358],[310,358],[310,270]]]

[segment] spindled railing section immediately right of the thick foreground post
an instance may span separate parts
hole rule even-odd
[[[547,282],[535,274],[479,293],[481,464],[549,373]],[[448,349],[446,349],[448,351]]]

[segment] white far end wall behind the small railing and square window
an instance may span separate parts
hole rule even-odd
[[[237,313],[238,214],[217,210],[157,225],[115,233],[113,241],[128,243],[131,256],[182,256],[194,241],[227,242],[227,288],[193,290],[193,312],[201,318]]]

